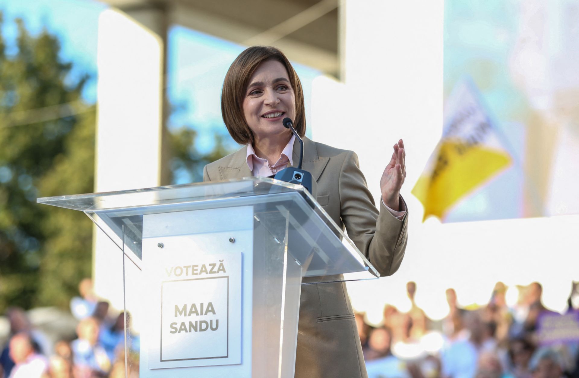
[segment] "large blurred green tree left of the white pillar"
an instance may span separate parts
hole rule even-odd
[[[16,53],[0,36],[0,312],[64,305],[91,262],[90,220],[36,204],[93,191],[95,112],[80,98],[87,76],[71,83],[57,38],[16,24]]]

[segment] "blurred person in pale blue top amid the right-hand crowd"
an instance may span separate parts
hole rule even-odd
[[[442,374],[448,378],[474,377],[477,372],[478,358],[482,351],[493,351],[485,335],[485,324],[479,310],[465,314],[465,325],[469,336],[457,340],[442,353]]]

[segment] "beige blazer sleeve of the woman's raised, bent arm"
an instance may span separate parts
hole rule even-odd
[[[358,167],[358,156],[349,151],[340,169],[340,217],[348,236],[366,255],[381,276],[393,275],[404,258],[408,206],[402,220],[380,201],[376,209],[366,179]]]

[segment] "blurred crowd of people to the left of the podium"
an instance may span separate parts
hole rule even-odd
[[[0,355],[0,378],[121,378],[126,376],[124,324],[129,316],[111,316],[109,303],[93,295],[93,284],[79,284],[80,297],[72,298],[71,313],[78,321],[74,335],[50,342],[32,326],[19,307],[6,311],[8,342]],[[126,356],[129,377],[138,376],[138,338],[129,338]]]

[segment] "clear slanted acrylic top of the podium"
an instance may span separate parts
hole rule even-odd
[[[296,251],[313,249],[320,255],[320,264],[331,262],[329,255],[349,256],[351,277],[339,280],[371,279],[379,273],[354,246],[316,199],[303,187],[267,177],[212,181],[135,190],[101,192],[79,195],[38,198],[38,203],[85,212],[125,254],[132,251],[136,265],[141,259],[142,220],[146,214],[183,212],[188,210],[217,209],[235,206],[254,206],[255,219],[259,213],[284,213],[294,230]],[[270,231],[274,234],[277,231]],[[280,235],[279,239],[284,238]],[[130,243],[127,242],[130,240]],[[328,260],[329,259],[329,260]],[[297,259],[296,259],[297,261]],[[325,269],[324,275],[341,274],[336,269]],[[315,264],[314,264],[315,265]],[[332,265],[332,264],[328,264]],[[354,268],[354,265],[359,266]],[[313,268],[313,265],[310,267]],[[358,269],[359,272],[353,270]],[[321,276],[321,270],[310,276]],[[361,273],[358,277],[356,273]],[[307,276],[307,275],[306,275]]]

